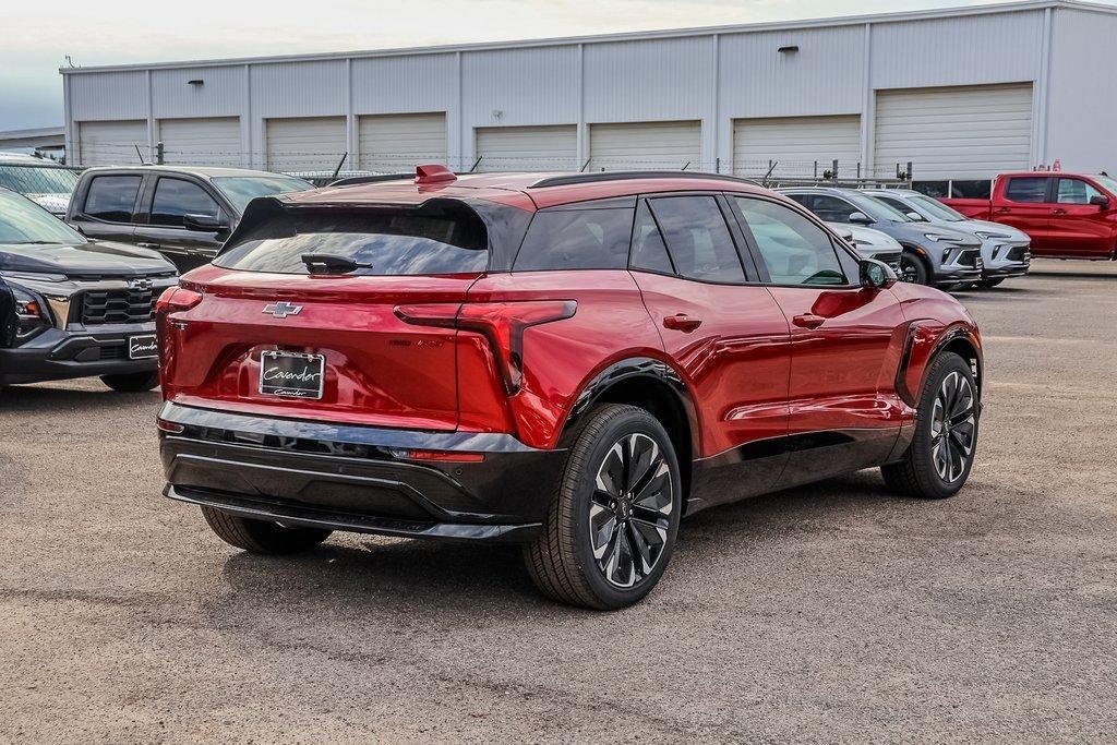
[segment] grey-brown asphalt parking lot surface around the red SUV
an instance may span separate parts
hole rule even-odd
[[[962,494],[862,471],[708,510],[613,614],[509,548],[239,554],[160,496],[155,393],[7,390],[0,741],[1109,741],[1117,265],[960,297],[987,366]]]

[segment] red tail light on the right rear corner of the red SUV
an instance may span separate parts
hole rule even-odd
[[[395,315],[418,326],[460,328],[483,334],[499,363],[508,393],[519,390],[523,381],[524,331],[574,315],[574,300],[526,300],[512,303],[428,303],[399,305]]]

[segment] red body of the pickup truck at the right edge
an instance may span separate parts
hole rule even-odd
[[[1046,178],[1051,185],[1041,202],[1013,201],[1008,190],[1013,179]],[[1081,181],[1108,197],[1109,206],[1057,201],[1059,179]],[[1027,232],[1033,256],[1063,259],[1117,259],[1117,194],[1089,175],[1061,171],[1024,171],[999,175],[991,199],[943,199],[968,218],[1012,226]]]

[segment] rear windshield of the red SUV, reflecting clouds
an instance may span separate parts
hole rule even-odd
[[[330,255],[360,265],[354,275],[446,275],[485,271],[485,226],[465,207],[338,213],[290,212],[257,226],[213,264],[242,271],[309,274],[303,256]]]

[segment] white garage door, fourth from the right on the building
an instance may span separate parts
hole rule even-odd
[[[573,124],[477,127],[474,132],[478,172],[577,170]]]

